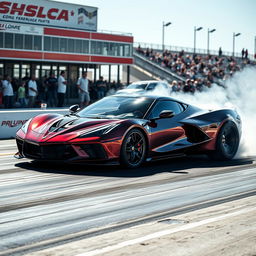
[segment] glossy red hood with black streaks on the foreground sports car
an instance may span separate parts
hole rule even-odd
[[[35,142],[66,142],[101,128],[111,128],[124,120],[90,119],[77,116],[37,116],[31,120],[26,139]]]

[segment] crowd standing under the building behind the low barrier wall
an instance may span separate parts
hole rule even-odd
[[[34,108],[46,103],[48,107],[63,107],[67,93],[67,86],[75,86],[77,89],[77,102],[80,107],[87,106],[90,102],[113,94],[123,87],[121,83],[108,83],[103,76],[93,83],[87,78],[87,72],[82,72],[74,84],[69,84],[66,79],[66,72],[61,71],[58,77],[52,72],[49,77],[36,79],[26,74],[19,82],[9,75],[0,77],[0,106],[3,108]]]

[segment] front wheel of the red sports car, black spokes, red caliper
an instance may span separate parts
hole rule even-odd
[[[139,167],[146,158],[146,138],[139,129],[130,130],[121,147],[120,162],[128,168]]]

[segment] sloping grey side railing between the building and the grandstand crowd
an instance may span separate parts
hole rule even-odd
[[[146,57],[143,57],[136,52],[133,53],[133,56],[135,57],[134,62],[136,65],[143,67],[143,69],[154,74],[155,76],[160,77],[161,79],[165,79],[168,82],[172,82],[173,80],[185,80],[183,77],[180,77],[166,68],[161,67],[157,63],[148,60]]]

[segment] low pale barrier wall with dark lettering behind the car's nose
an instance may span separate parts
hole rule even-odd
[[[68,109],[2,110],[0,111],[0,139],[14,138],[18,129],[31,117],[46,113],[67,114],[68,112]]]

